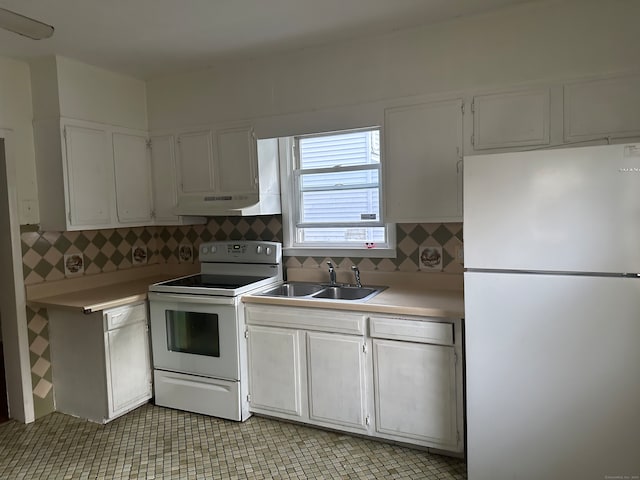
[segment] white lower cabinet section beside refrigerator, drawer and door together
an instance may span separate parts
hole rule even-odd
[[[460,320],[371,316],[376,434],[463,451]]]

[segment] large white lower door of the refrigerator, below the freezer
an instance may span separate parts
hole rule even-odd
[[[640,279],[465,273],[473,480],[638,478]]]

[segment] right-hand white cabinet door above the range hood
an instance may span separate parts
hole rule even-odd
[[[250,127],[230,128],[216,133],[219,190],[225,193],[257,189],[256,139]]]

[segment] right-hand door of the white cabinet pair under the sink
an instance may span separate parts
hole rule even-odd
[[[364,339],[307,333],[309,418],[367,430]]]

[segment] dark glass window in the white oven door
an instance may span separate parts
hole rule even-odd
[[[220,357],[220,330],[216,313],[165,310],[167,348],[208,357]]]

